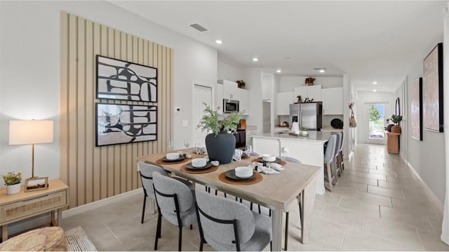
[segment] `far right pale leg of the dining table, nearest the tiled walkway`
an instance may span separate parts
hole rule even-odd
[[[309,183],[304,190],[302,190],[302,229],[301,229],[301,241],[302,244],[309,243],[311,235],[311,215],[314,211],[315,193],[316,193],[316,179]]]

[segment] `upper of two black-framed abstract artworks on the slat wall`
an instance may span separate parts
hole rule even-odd
[[[97,55],[97,98],[157,102],[157,69]]]

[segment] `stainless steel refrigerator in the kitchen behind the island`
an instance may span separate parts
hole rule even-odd
[[[323,126],[323,102],[290,104],[290,125],[297,122],[300,130],[321,130]]]

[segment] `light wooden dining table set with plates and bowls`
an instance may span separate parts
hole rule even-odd
[[[186,151],[186,150],[180,150]],[[173,152],[173,151],[172,151]],[[191,160],[176,164],[161,164],[161,158],[166,153],[156,153],[139,157],[138,160],[163,167],[175,176],[200,183],[213,189],[220,190],[228,195],[240,197],[243,200],[260,204],[272,209],[272,249],[281,251],[283,211],[288,205],[301,195],[302,200],[302,229],[301,242],[307,244],[311,234],[311,212],[314,208],[316,181],[320,173],[320,167],[302,165],[294,162],[286,162],[284,170],[279,174],[262,174],[262,181],[252,185],[236,185],[226,183],[219,179],[219,174],[236,167],[247,166],[249,162],[257,159],[250,157],[239,162],[232,161],[229,164],[219,165],[214,172],[192,174],[182,172],[181,168]],[[204,155],[192,154],[192,158],[204,158]],[[159,160],[159,163],[158,163]]]

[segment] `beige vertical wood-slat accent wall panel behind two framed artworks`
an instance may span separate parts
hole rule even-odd
[[[61,12],[60,179],[69,207],[140,187],[141,155],[166,151],[173,139],[173,49]],[[95,55],[123,59],[158,71],[158,102],[96,99]],[[158,106],[157,141],[95,147],[95,103]]]

